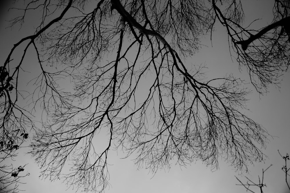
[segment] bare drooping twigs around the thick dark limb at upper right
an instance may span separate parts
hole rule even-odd
[[[240,25],[244,18],[244,14],[239,14],[242,4],[240,1],[231,2],[226,14],[213,7],[218,20],[226,27],[232,47],[238,54],[238,62],[247,67],[252,84],[262,94],[269,84],[278,86],[289,66],[290,2],[274,0],[272,23],[258,30],[251,29],[251,25],[245,28]]]

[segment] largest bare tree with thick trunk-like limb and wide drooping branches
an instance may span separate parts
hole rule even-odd
[[[268,136],[244,115],[250,91],[232,75],[206,78],[204,66],[192,66],[186,58],[198,51],[200,36],[220,22],[256,90],[267,91],[289,65],[287,27],[275,24],[288,18],[289,4],[275,2],[271,29],[250,30],[242,27],[237,0],[30,1],[18,8],[24,14],[11,26],[23,25],[30,11],[41,10],[42,20],[34,34],[13,45],[1,69],[9,74],[2,87],[13,85],[15,93],[3,102],[12,104],[7,117],[15,117],[15,109],[27,113],[16,106],[17,84],[33,47],[41,73],[32,80],[36,89],[30,99],[43,117],[30,153],[44,177],[102,192],[108,154],[118,148],[152,172],[173,161],[202,160],[218,168],[220,157],[247,170],[264,159],[260,148]],[[284,31],[278,33],[279,27]],[[260,34],[253,38],[255,32]],[[21,58],[13,60],[20,45],[25,45]],[[63,86],[67,80],[73,88]],[[100,131],[108,133],[104,149],[94,141]],[[70,173],[63,174],[68,164]]]

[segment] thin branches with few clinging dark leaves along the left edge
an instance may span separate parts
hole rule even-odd
[[[20,179],[28,175],[22,175],[24,166],[13,166],[17,150],[28,139],[27,127],[33,128],[33,122],[29,113],[19,107],[16,102],[19,93],[15,84],[11,83],[13,78],[9,76],[6,68],[0,67],[0,192],[16,193],[19,192]],[[17,88],[17,86],[16,86]],[[13,90],[16,93],[11,95]],[[4,99],[2,101],[2,99]],[[7,164],[10,163],[10,164]],[[20,173],[21,172],[21,173]],[[19,174],[20,173],[20,174]]]

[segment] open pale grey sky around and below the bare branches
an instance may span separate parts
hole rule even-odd
[[[0,1],[3,2],[3,1]],[[5,2],[5,1],[4,1]],[[8,2],[8,1],[6,1]],[[21,1],[19,1],[21,2]],[[253,21],[254,19],[262,19],[255,25],[262,27],[272,21],[272,9],[273,0],[243,0],[243,8],[246,15],[245,25]],[[4,63],[10,49],[13,44],[18,42],[21,38],[31,34],[33,26],[37,27],[37,24],[33,25],[33,21],[29,19],[39,19],[37,17],[29,17],[20,31],[17,28],[5,29],[8,24],[5,20],[11,19],[13,13],[6,12],[7,8],[11,6],[7,3],[6,8],[1,8],[1,20],[0,20],[0,62]],[[31,31],[32,30],[32,31]],[[241,77],[244,80],[248,79],[246,69],[243,68],[242,73],[238,69],[238,63],[233,58],[233,61],[229,54],[229,47],[227,41],[227,34],[224,28],[216,26],[216,32],[213,33],[213,47],[209,41],[209,36],[202,43],[208,47],[203,47],[200,52],[192,58],[188,58],[189,63],[201,64],[206,63],[209,73],[207,76],[210,78],[222,77],[226,73],[233,73],[236,77]],[[21,50],[21,49],[19,49]],[[31,71],[33,75],[33,68],[36,63],[36,56],[33,49],[30,49],[23,63],[23,68]],[[265,193],[286,193],[286,183],[284,178],[284,172],[281,170],[284,160],[278,154],[278,149],[285,155],[290,153],[290,74],[285,73],[284,79],[281,84],[280,92],[275,87],[270,87],[267,95],[259,98],[258,93],[255,91],[248,96],[251,100],[248,103],[248,107],[251,111],[247,112],[247,116],[253,119],[255,122],[262,124],[266,128],[270,135],[277,136],[270,139],[267,149],[264,153],[269,157],[265,163],[255,163],[254,166],[250,165],[249,174],[244,174],[253,181],[258,183],[258,175],[262,175],[262,168],[266,169],[270,164],[273,164],[271,168],[265,173],[264,182],[267,185],[263,190]],[[24,148],[23,148],[24,149]],[[109,154],[109,166],[110,173],[110,188],[105,190],[106,193],[230,193],[230,192],[246,192],[246,189],[242,186],[237,186],[239,182],[234,176],[238,176],[235,169],[229,166],[228,163],[220,161],[220,169],[211,172],[209,168],[206,168],[200,161],[191,163],[186,168],[180,168],[174,164],[170,170],[159,170],[155,176],[149,173],[149,170],[140,169],[133,165],[130,157],[127,159],[120,159],[122,157],[121,152],[111,151]],[[26,190],[28,193],[58,193],[64,192],[67,188],[61,181],[50,182],[47,180],[39,179],[39,169],[29,155],[24,155],[21,152],[13,163],[14,166],[24,165],[29,163],[25,167],[25,172],[29,172],[30,176],[25,177],[23,182],[26,184],[20,185],[21,190]],[[10,163],[10,162],[8,162]],[[290,163],[289,163],[290,166]],[[246,182],[247,180],[243,176],[238,176],[240,180]],[[75,192],[75,190],[68,189],[67,192]],[[78,191],[80,192],[80,191]],[[258,192],[258,191],[257,191]]]

